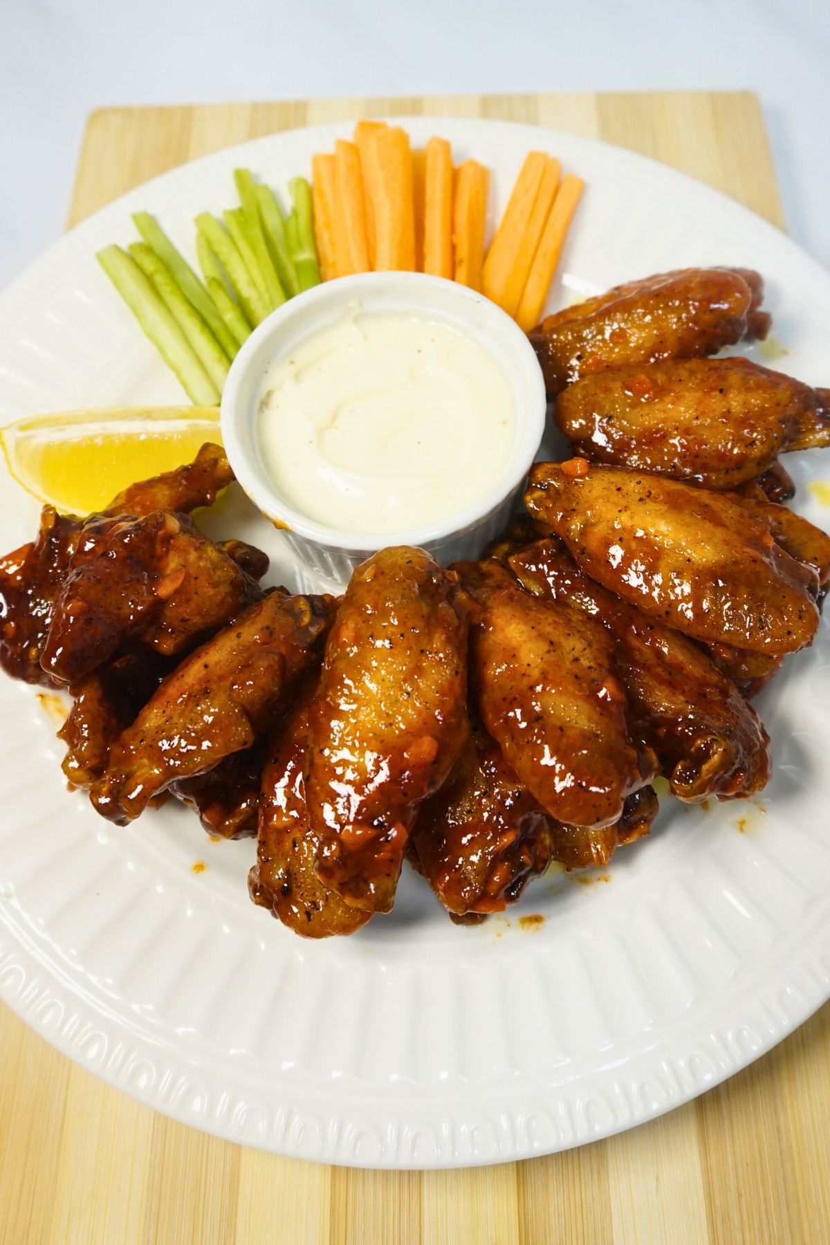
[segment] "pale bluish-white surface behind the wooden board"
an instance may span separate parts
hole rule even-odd
[[[101,105],[752,88],[830,266],[830,0],[0,0],[0,286],[61,232]]]

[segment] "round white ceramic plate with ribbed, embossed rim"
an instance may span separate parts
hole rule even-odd
[[[783,234],[662,166],[569,134],[459,120],[404,122],[493,169],[493,209],[544,148],[589,189],[551,305],[686,264],[768,278],[778,366],[830,381],[830,280]],[[336,126],[276,134],[148,183],[63,238],[0,298],[0,418],[180,401],[93,260],[148,208],[189,254],[231,169],[307,172]],[[830,518],[795,457],[799,508]],[[0,473],[0,548],[37,507]],[[300,583],[279,535],[274,576]],[[240,530],[241,529],[241,530]],[[594,884],[531,885],[508,918],[452,925],[403,878],[389,916],[312,944],[255,909],[251,840],[214,844],[163,809],[127,829],[66,789],[35,692],[0,681],[0,992],[61,1051],[142,1102],[234,1142],[363,1167],[452,1167],[564,1149],[674,1107],[728,1077],[830,994],[830,645],[789,660],[759,707],[775,773],[760,799],[684,809]],[[739,823],[743,822],[743,825]],[[745,833],[739,833],[743,829]],[[205,862],[203,873],[193,865]],[[585,880],[585,879],[582,879]],[[602,884],[605,883],[605,884]],[[525,923],[523,915],[544,921]]]

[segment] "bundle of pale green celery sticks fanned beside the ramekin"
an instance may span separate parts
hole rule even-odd
[[[230,361],[253,329],[286,299],[320,284],[311,188],[289,183],[284,215],[269,186],[234,169],[241,207],[195,218],[204,284],[147,212],[133,222],[142,242],[105,247],[105,273],[198,406],[218,406]]]

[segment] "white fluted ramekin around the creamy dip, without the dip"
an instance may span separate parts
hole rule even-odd
[[[510,456],[492,488],[438,523],[407,532],[348,533],[307,518],[269,477],[259,448],[258,405],[265,369],[348,308],[411,311],[449,324],[479,342],[500,364],[515,407]],[[363,273],[317,285],[290,299],[250,335],[234,359],[221,395],[221,438],[236,479],[305,568],[304,588],[348,583],[355,566],[386,545],[426,549],[447,565],[475,558],[506,524],[545,428],[545,385],[533,346],[500,308],[464,285],[421,273]]]

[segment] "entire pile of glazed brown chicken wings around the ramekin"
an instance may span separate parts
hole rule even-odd
[[[391,909],[404,859],[455,921],[553,860],[648,833],[652,782],[737,799],[770,773],[750,698],[811,644],[830,538],[778,457],[830,442],[830,391],[748,359],[763,284],[688,269],[531,341],[572,457],[538,463],[482,560],[382,549],[346,593],[263,589],[268,558],[190,518],[207,444],[86,519],[45,507],[0,560],[0,662],[68,688],[63,771],[119,824],[167,799],[258,837],[249,888],[297,934]]]

